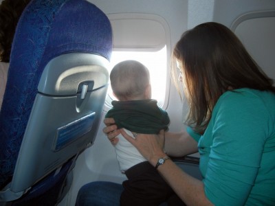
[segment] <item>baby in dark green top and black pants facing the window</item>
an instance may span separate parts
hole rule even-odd
[[[118,128],[124,128],[133,138],[138,133],[159,134],[168,129],[170,119],[151,99],[150,74],[144,65],[135,60],[120,62],[113,67],[110,80],[113,95],[119,101],[112,102],[113,108],[105,117],[115,119]],[[128,178],[122,184],[120,205],[159,205],[166,201],[173,190],[135,146],[122,135],[118,139],[115,152],[120,170]]]

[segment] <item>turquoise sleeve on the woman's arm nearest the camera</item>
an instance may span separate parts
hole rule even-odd
[[[206,196],[214,205],[245,204],[261,166],[267,119],[263,103],[253,95],[228,95],[215,106],[203,179]],[[201,139],[200,144],[207,143]]]

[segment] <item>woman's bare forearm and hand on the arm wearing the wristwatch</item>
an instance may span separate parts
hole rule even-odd
[[[120,133],[133,144],[140,153],[148,159],[148,161],[155,166],[158,159],[165,157],[166,154],[163,151],[164,148],[164,131],[159,135],[144,135],[138,134],[135,139],[130,137],[125,133],[123,129],[120,129]],[[175,135],[175,134],[174,134]],[[172,134],[168,134],[168,150],[176,141],[170,140],[173,137]],[[178,136],[177,136],[178,137]],[[187,138],[188,136],[186,136]],[[181,141],[184,141],[184,135],[178,137]],[[191,138],[191,137],[190,137]],[[186,141],[188,142],[188,141]],[[185,143],[186,143],[185,142]],[[192,144],[193,142],[190,141]],[[192,150],[194,150],[194,145],[191,145]],[[170,152],[170,151],[169,151]],[[177,154],[183,153],[175,152]],[[181,154],[182,155],[182,154]],[[204,193],[203,183],[198,179],[189,176],[184,171],[182,171],[173,161],[166,160],[163,165],[159,165],[157,168],[160,174],[166,179],[167,183],[177,195],[181,198],[186,205],[212,205]]]

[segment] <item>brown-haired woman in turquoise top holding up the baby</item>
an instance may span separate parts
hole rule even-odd
[[[185,32],[173,61],[178,65],[172,69],[173,79],[179,73],[183,86],[176,82],[177,89],[184,91],[190,111],[186,131],[165,134],[165,150],[172,156],[198,150],[203,181],[170,159],[159,165],[166,157],[164,132],[161,138],[138,134],[132,139],[116,129],[113,119],[104,119],[104,133],[112,144],[121,133],[152,165],[158,164],[158,172],[186,205],[275,205],[273,81],[219,23],[203,23]],[[86,192],[94,190],[93,184],[108,183],[86,185]]]

